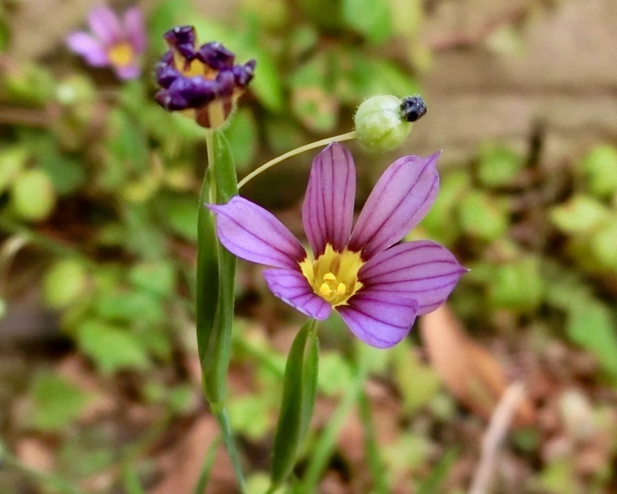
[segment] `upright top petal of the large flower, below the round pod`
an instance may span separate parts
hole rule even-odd
[[[345,248],[354,219],[354,199],[354,159],[342,144],[330,144],[313,160],[302,205],[302,223],[315,257],[323,254],[326,243],[339,252]]]

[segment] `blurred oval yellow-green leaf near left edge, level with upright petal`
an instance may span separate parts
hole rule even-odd
[[[10,203],[17,216],[25,221],[41,221],[56,206],[56,193],[43,170],[26,170],[15,178],[10,189]]]

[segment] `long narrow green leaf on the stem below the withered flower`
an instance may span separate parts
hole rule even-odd
[[[213,215],[204,203],[225,204],[238,194],[238,183],[231,147],[223,133],[208,133],[207,139],[210,178],[204,181],[198,218],[197,345],[205,397],[210,403],[220,403],[231,351],[236,256],[218,241]]]

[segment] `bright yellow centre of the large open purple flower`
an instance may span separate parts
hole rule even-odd
[[[358,281],[358,271],[363,264],[359,252],[347,249],[337,252],[326,244],[326,250],[321,256],[315,261],[307,256],[300,262],[300,269],[315,293],[336,307],[346,304],[347,299],[362,288],[362,283]]]

